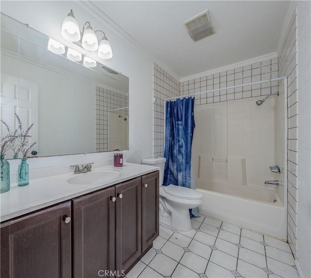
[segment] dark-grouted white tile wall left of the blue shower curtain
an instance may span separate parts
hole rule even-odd
[[[164,156],[164,100],[179,95],[179,82],[154,63],[154,156]]]

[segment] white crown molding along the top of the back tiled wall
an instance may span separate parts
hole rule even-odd
[[[261,62],[261,61],[264,61],[264,60],[268,60],[268,59],[273,59],[273,58],[276,58],[276,57],[277,57],[276,52],[272,52],[272,53],[261,55],[261,56],[255,57],[255,58],[243,60],[243,61],[238,62],[238,63],[226,65],[224,67],[220,67],[220,68],[217,68],[217,69],[210,69],[210,70],[203,71],[203,72],[200,72],[200,73],[197,73],[197,74],[186,76],[186,77],[180,78],[180,82],[192,80],[192,79],[195,79],[195,78],[200,78],[200,77],[203,77],[203,76],[207,76],[207,75],[218,73],[218,72],[225,71],[225,70],[230,70],[230,69],[235,69],[235,68],[247,66],[249,64],[258,63],[258,62]]]

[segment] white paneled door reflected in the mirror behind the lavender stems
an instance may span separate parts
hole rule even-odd
[[[1,73],[1,120],[6,122],[11,131],[18,128],[17,119],[14,113],[17,113],[23,129],[26,130],[34,123],[30,130],[31,137],[28,139],[28,145],[38,142],[38,85],[35,82],[18,78],[9,74]],[[1,138],[6,136],[7,130],[4,124],[1,124]],[[32,151],[38,152],[38,144]],[[21,157],[19,154],[18,157]],[[32,156],[30,153],[28,156]],[[13,151],[8,150],[6,158],[12,158]]]

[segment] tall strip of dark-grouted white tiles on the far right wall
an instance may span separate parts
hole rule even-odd
[[[297,219],[297,15],[293,13],[279,55],[279,76],[288,77],[288,242],[296,257]]]

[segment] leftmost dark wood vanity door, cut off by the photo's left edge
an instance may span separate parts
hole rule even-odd
[[[71,278],[70,203],[1,224],[1,277]]]

